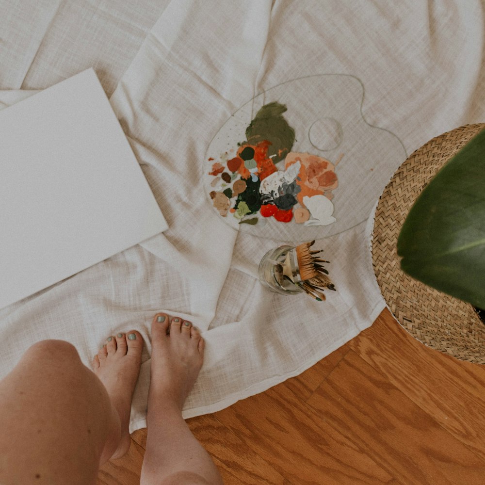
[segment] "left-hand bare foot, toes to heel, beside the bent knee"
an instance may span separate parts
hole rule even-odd
[[[116,443],[113,447],[107,443],[105,452],[109,456],[103,456],[102,461],[121,458],[129,450],[129,415],[133,392],[140,373],[142,349],[143,339],[137,331],[132,330],[128,334],[119,333],[116,337],[109,337],[106,340],[106,344],[92,362],[93,371],[108,391],[121,425],[121,433],[117,440],[119,445]]]

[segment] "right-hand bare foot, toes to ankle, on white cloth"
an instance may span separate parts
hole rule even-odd
[[[157,313],[152,322],[148,407],[183,404],[204,360],[204,339],[191,322]]]

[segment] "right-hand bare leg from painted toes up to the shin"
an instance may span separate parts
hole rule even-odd
[[[190,322],[155,315],[142,485],[222,484],[209,454],[182,418],[203,353],[204,341]]]

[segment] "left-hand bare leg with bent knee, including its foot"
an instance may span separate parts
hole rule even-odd
[[[143,340],[112,338],[95,373],[73,345],[43,340],[0,382],[0,483],[91,485],[128,451]]]

